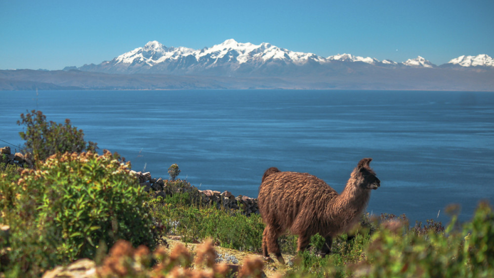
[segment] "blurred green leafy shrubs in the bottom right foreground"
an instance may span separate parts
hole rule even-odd
[[[494,213],[486,203],[466,224],[459,225],[453,215],[444,232],[430,221],[425,228],[418,226],[419,232],[417,226],[410,229],[406,224],[396,219],[383,222],[369,243],[358,244],[364,247],[363,260],[346,260],[343,268],[328,264],[326,273],[330,277],[494,276]]]

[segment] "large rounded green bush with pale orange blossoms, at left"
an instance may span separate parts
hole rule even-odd
[[[11,229],[8,267],[22,272],[93,258],[100,243],[118,239],[156,245],[148,195],[117,154],[51,156],[17,182],[2,177],[0,196],[0,223]]]

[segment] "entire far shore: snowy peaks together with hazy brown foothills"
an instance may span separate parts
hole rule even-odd
[[[230,39],[193,49],[150,41],[112,60],[59,71],[0,70],[0,90],[445,90],[494,92],[486,54],[440,66],[421,56],[403,63],[290,51]]]

